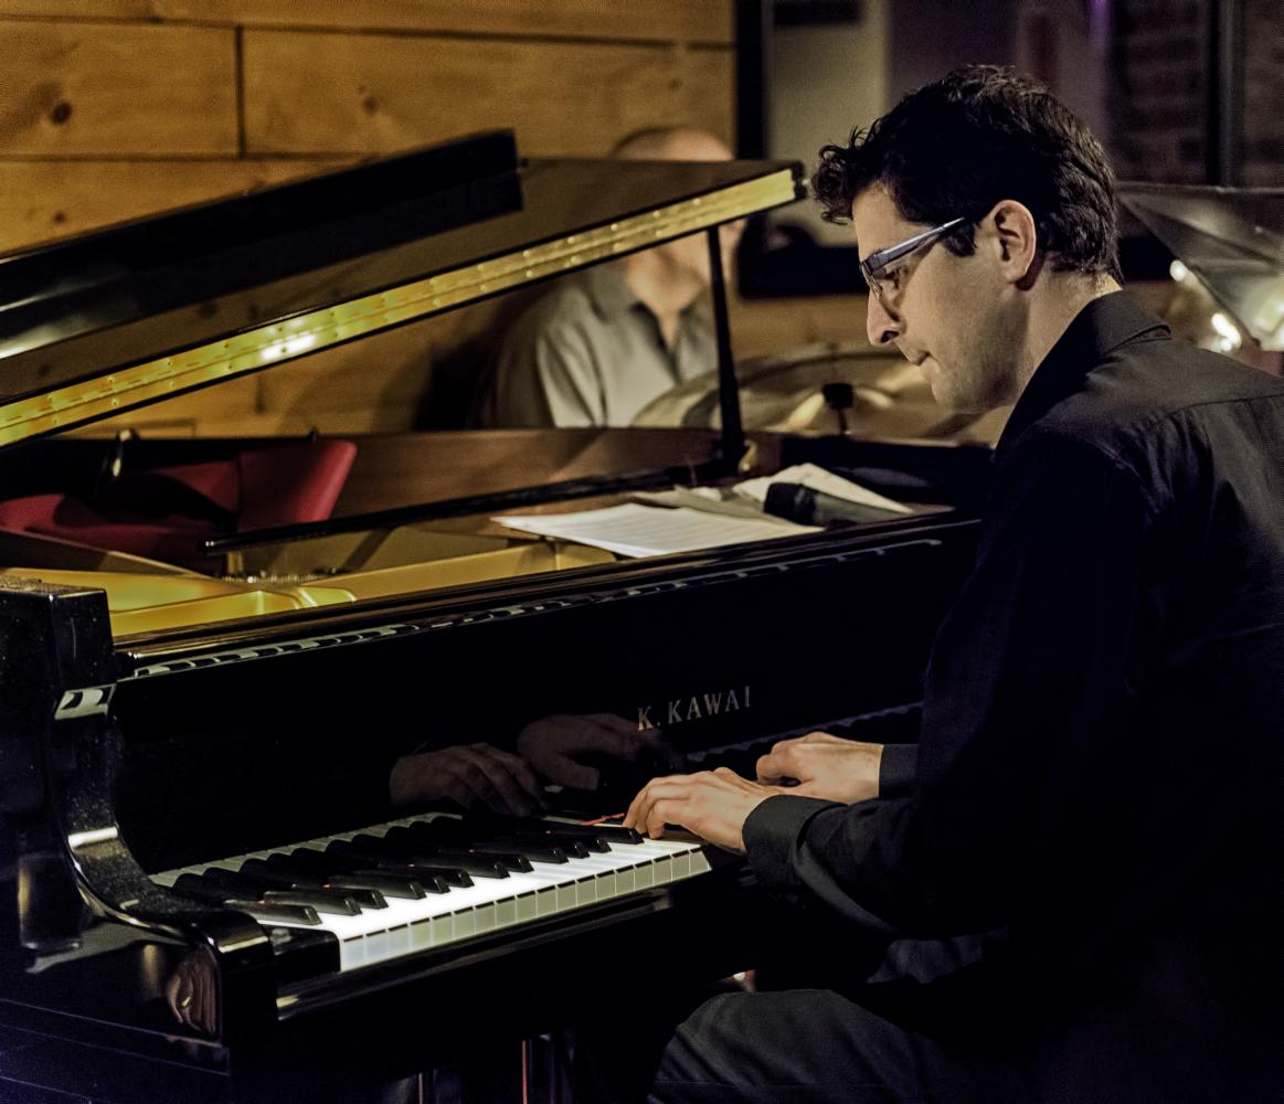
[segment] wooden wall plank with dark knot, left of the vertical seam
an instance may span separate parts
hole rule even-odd
[[[239,151],[235,32],[0,21],[0,155]]]

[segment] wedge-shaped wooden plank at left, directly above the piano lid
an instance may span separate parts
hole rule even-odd
[[[0,252],[98,226],[235,195],[340,162],[0,162]]]

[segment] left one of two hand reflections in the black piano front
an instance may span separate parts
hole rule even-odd
[[[516,755],[473,743],[421,751],[398,759],[388,779],[393,805],[452,801],[462,809],[529,816],[544,805],[543,789]]]

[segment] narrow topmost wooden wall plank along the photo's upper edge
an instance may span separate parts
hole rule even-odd
[[[729,45],[733,0],[0,0],[0,15]]]

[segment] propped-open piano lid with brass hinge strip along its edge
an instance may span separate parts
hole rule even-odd
[[[0,255],[0,447],[788,203],[800,175],[519,160],[505,131]]]

